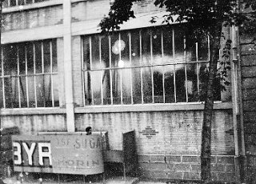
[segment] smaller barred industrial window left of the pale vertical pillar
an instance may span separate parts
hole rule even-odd
[[[2,46],[0,106],[58,106],[56,40]]]

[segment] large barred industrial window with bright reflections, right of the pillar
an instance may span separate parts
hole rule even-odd
[[[189,44],[182,30],[159,27],[86,35],[82,40],[85,105],[203,100],[208,38]],[[221,101],[220,90],[214,96]]]

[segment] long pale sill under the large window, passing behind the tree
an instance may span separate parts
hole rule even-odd
[[[86,106],[76,107],[74,112],[79,113],[116,113],[116,112],[146,112],[146,111],[177,111],[177,110],[203,110],[204,103],[176,103],[176,104],[136,104],[113,106]],[[214,110],[231,110],[232,102],[215,102]]]

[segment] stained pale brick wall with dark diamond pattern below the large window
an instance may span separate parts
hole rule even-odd
[[[122,132],[135,130],[141,176],[200,178],[202,111],[76,114],[76,128],[108,131],[110,149],[122,150]],[[235,181],[232,115],[215,110],[212,127],[215,180]]]

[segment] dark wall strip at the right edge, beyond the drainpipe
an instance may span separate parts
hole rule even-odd
[[[242,106],[245,130],[247,182],[256,178],[256,50],[251,39],[255,35],[241,38]]]

